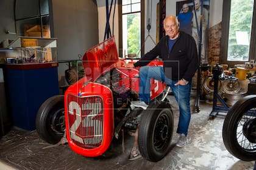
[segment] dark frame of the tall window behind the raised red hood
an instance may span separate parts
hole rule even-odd
[[[144,0],[141,0],[140,2],[140,13],[141,13],[141,23],[140,23],[140,26],[141,26],[141,56],[144,55],[144,47],[143,44],[144,44],[144,29],[145,29],[145,25],[144,25],[144,22],[145,22],[145,19],[144,19],[144,16],[145,16],[145,3],[144,3]],[[130,13],[124,13],[124,15],[127,15],[127,14],[132,14],[132,13],[137,13],[137,12],[130,12]],[[121,58],[123,58],[123,12],[122,12],[122,0],[118,0],[118,30],[119,30],[119,33],[118,33],[118,53],[119,53],[119,56]]]

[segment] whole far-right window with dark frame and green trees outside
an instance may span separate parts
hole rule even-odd
[[[221,64],[244,64],[255,60],[254,0],[223,1]]]

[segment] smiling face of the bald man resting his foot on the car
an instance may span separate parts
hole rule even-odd
[[[179,26],[176,24],[175,18],[165,19],[165,32],[171,39],[179,33]]]

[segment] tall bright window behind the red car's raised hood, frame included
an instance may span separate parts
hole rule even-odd
[[[119,0],[119,4],[119,56],[140,58],[144,53],[144,1]]]

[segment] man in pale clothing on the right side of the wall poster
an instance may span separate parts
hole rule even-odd
[[[196,41],[197,49],[199,44],[199,29],[200,29],[200,18],[201,18],[201,10],[202,10],[202,50],[201,50],[201,59],[204,60],[204,63],[207,63],[207,60],[205,58],[205,30],[207,29],[208,25],[208,12],[207,9],[201,8],[201,0],[194,0],[194,7],[196,9],[196,13],[194,13],[193,10],[193,18],[192,18],[192,36],[194,37],[194,40]],[[197,28],[198,27],[198,28]]]

